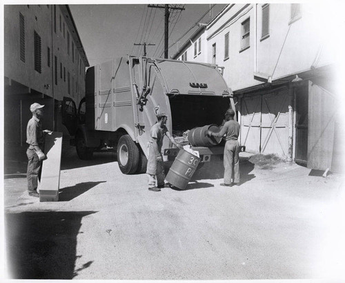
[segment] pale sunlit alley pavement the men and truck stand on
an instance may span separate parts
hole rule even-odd
[[[6,163],[9,276],[17,279],[344,279],[344,178],[242,153],[240,186],[220,159],[181,191],[148,191],[115,154],[66,147],[59,202],[26,193],[25,160]],[[217,159],[217,158],[215,158]],[[322,173],[322,172],[321,172]],[[337,280],[335,282],[338,282]]]

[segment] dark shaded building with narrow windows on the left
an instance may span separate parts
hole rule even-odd
[[[88,59],[68,5],[4,6],[4,142],[26,147],[30,105],[46,105],[43,127],[65,132],[63,96],[79,103]]]

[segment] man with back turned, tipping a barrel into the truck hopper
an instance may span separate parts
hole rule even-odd
[[[226,134],[226,144],[224,147],[224,183],[221,186],[239,185],[239,123],[234,120],[235,112],[228,109],[225,114],[226,123],[220,132],[207,131],[208,136],[221,137]],[[234,171],[234,178],[233,178]],[[233,178],[233,183],[231,179]]]

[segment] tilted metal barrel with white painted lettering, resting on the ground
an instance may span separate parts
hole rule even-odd
[[[185,189],[200,160],[201,158],[181,149],[166,175],[166,181],[179,189]]]

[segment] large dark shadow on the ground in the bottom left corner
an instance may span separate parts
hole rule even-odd
[[[97,211],[5,213],[8,273],[12,279],[70,280],[75,269],[81,220]]]

